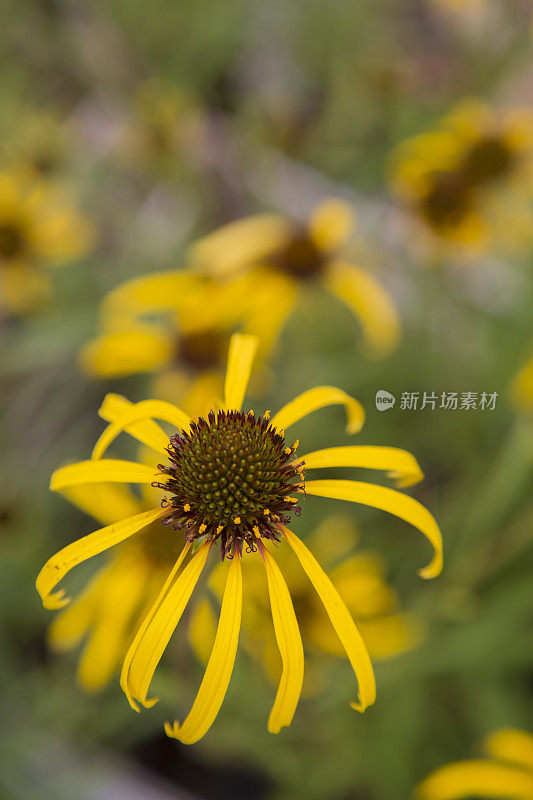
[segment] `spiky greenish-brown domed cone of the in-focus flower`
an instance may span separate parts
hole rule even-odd
[[[268,414],[211,411],[171,439],[166,475],[154,483],[167,492],[164,522],[189,541],[220,543],[222,557],[256,549],[260,539],[279,541],[280,526],[300,508],[290,492],[303,488],[303,462],[294,457]]]

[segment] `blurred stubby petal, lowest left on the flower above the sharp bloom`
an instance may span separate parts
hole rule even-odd
[[[171,355],[172,341],[167,334],[139,326],[91,339],[80,351],[79,363],[91,377],[121,378],[153,372]]]

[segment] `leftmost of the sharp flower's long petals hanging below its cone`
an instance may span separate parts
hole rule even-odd
[[[149,699],[147,696],[153,674],[198,582],[210,547],[209,542],[204,544],[174,583],[167,587],[164,596],[163,592],[160,594],[149,614],[148,624],[144,627],[143,623],[144,630],[131,660],[126,657],[130,661],[129,669],[127,675],[123,671],[125,682],[123,685],[121,679],[121,686],[136,710],[135,700],[145,708],[157,702],[157,698]]]

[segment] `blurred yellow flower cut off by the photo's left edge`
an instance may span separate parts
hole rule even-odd
[[[33,310],[49,293],[48,268],[81,258],[92,239],[88,220],[56,188],[0,173],[0,308]]]

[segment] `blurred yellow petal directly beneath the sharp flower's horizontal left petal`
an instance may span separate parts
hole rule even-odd
[[[133,517],[134,514],[140,514],[147,508],[135,497],[129,487],[117,483],[87,483],[83,486],[69,486],[68,489],[62,489],[61,494],[77,508],[101,522],[102,525],[120,522],[121,519]],[[160,496],[150,505],[156,505],[161,496],[160,491]]]

